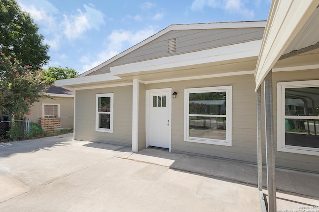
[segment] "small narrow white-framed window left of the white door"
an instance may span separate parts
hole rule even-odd
[[[113,132],[113,93],[96,94],[96,131]]]

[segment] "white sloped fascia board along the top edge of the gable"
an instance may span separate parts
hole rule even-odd
[[[132,46],[131,48],[121,52],[120,54],[110,58],[109,60],[103,62],[102,64],[82,73],[79,77],[86,76],[102,67],[112,63],[118,58],[123,57],[124,55],[133,52],[134,50],[144,46],[145,44],[159,38],[160,36],[170,32],[172,30],[200,30],[200,29],[235,29],[235,28],[264,28],[266,26],[266,21],[247,21],[247,22],[224,22],[224,23],[199,23],[199,24],[176,24],[170,25],[160,32],[152,35],[151,37],[143,40],[142,42]]]

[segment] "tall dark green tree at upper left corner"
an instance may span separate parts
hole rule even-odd
[[[30,15],[14,0],[0,0],[0,51],[33,70],[47,64],[49,46]],[[12,61],[13,62],[13,61]]]

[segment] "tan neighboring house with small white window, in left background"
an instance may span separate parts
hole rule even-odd
[[[52,97],[35,102],[27,116],[33,122],[43,118],[60,118],[61,129],[73,128],[74,91],[71,88],[49,87],[47,94]]]

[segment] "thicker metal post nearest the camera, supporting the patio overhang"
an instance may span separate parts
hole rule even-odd
[[[268,212],[276,212],[272,70],[264,80]]]

